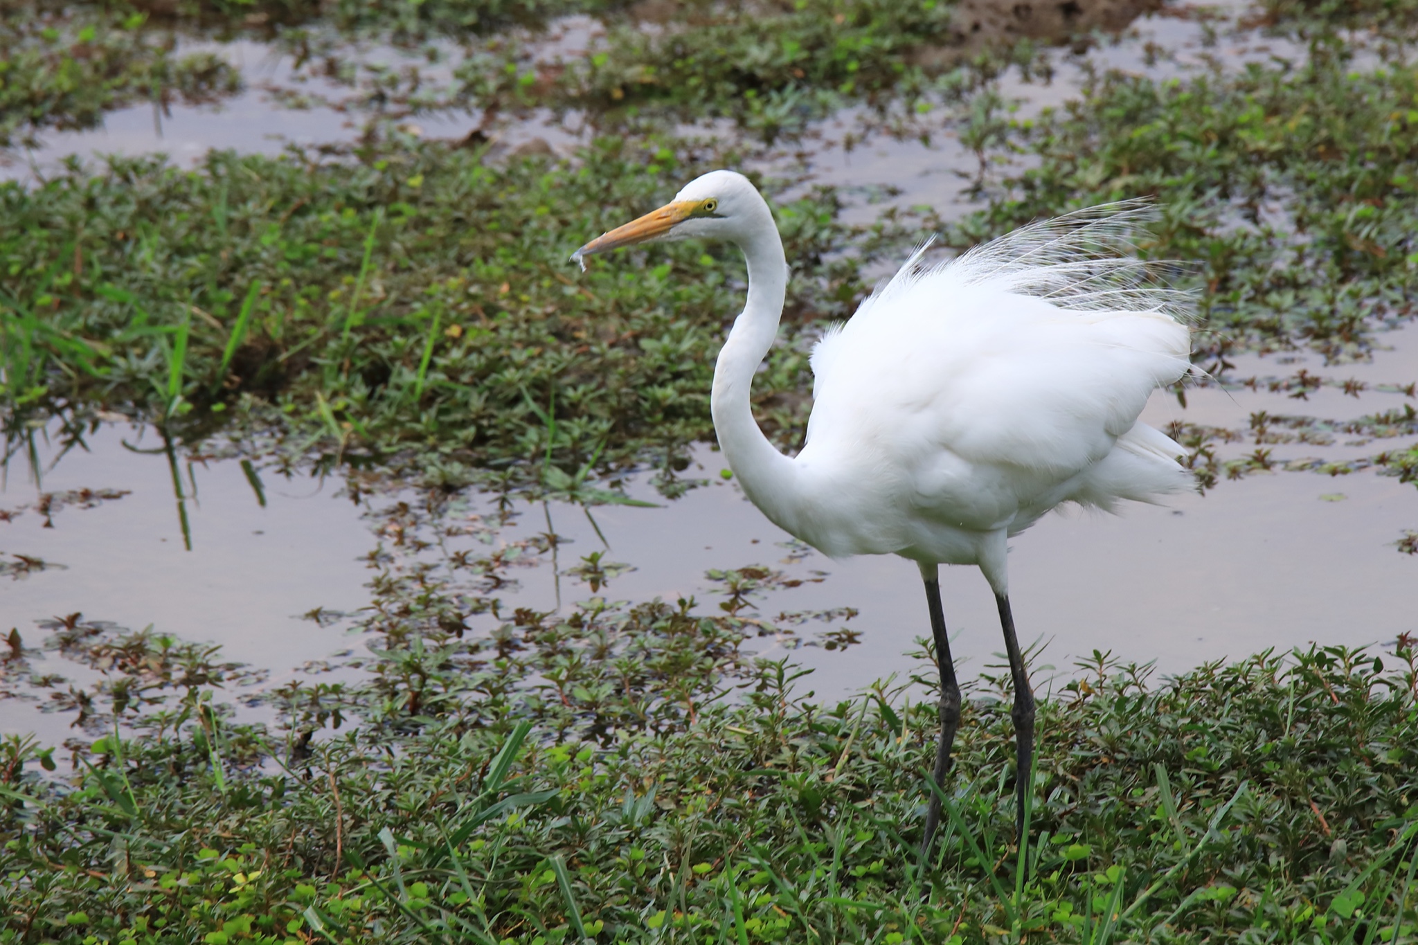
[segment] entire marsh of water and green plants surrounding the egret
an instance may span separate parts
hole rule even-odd
[[[0,0],[0,942],[1414,941],[1415,27]],[[566,264],[722,164],[795,266],[786,448],[926,231],[1147,196],[1191,266],[1210,377],[1146,417],[1201,494],[1017,541],[1024,859],[983,585],[920,863],[910,570],[720,477],[737,261]]]

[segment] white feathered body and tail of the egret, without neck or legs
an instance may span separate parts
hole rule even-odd
[[[934,266],[922,247],[830,330],[797,456],[800,537],[832,555],[984,557],[1003,589],[981,540],[1064,502],[1188,487],[1184,451],[1137,422],[1190,370],[1188,296],[1136,258],[1099,256],[1150,215],[1095,207]]]

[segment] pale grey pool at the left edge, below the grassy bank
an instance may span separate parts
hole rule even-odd
[[[23,455],[6,468],[0,510],[10,520],[0,521],[0,568],[17,572],[0,574],[0,635],[17,629],[34,647],[45,638],[38,622],[69,613],[135,630],[152,625],[220,643],[227,659],[269,670],[274,684],[350,645],[347,621],[322,626],[302,616],[315,608],[356,611],[369,599],[356,558],[373,547],[372,536],[362,510],[335,497],[337,482],[261,472],[262,506],[240,462],[182,456],[179,502],[152,429],[109,425],[85,442],[54,462],[61,451],[40,438],[38,482]],[[44,493],[62,503],[81,490],[126,494],[48,517],[35,509]],[[18,555],[44,564],[16,568]],[[37,669],[88,679],[60,659]],[[68,721],[37,715],[28,701],[0,700],[0,731],[38,730],[52,742],[67,737]]]

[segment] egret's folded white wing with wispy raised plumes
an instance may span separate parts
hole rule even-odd
[[[876,456],[873,469],[909,470],[902,485],[927,504],[978,490],[961,462],[1012,470],[1000,487],[1020,494],[997,496],[1001,509],[1038,504],[1100,463],[1151,390],[1190,368],[1191,296],[1119,255],[1151,217],[1139,201],[1081,210],[934,266],[919,248],[814,350],[804,455]]]

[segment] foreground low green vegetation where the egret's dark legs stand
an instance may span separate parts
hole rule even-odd
[[[45,628],[102,674],[33,680],[86,732],[67,755],[0,748],[0,942],[1412,941],[1411,639],[1160,683],[1076,667],[1041,703],[1024,861],[987,673],[922,863],[934,706],[889,683],[820,706],[744,656],[763,570],[722,574],[716,616],[499,615],[518,554],[550,548],[430,567],[431,540],[496,523],[425,494],[380,519],[363,674],[275,690],[267,724],[221,704],[252,680],[208,647]],[[40,650],[9,646],[26,680]]]

